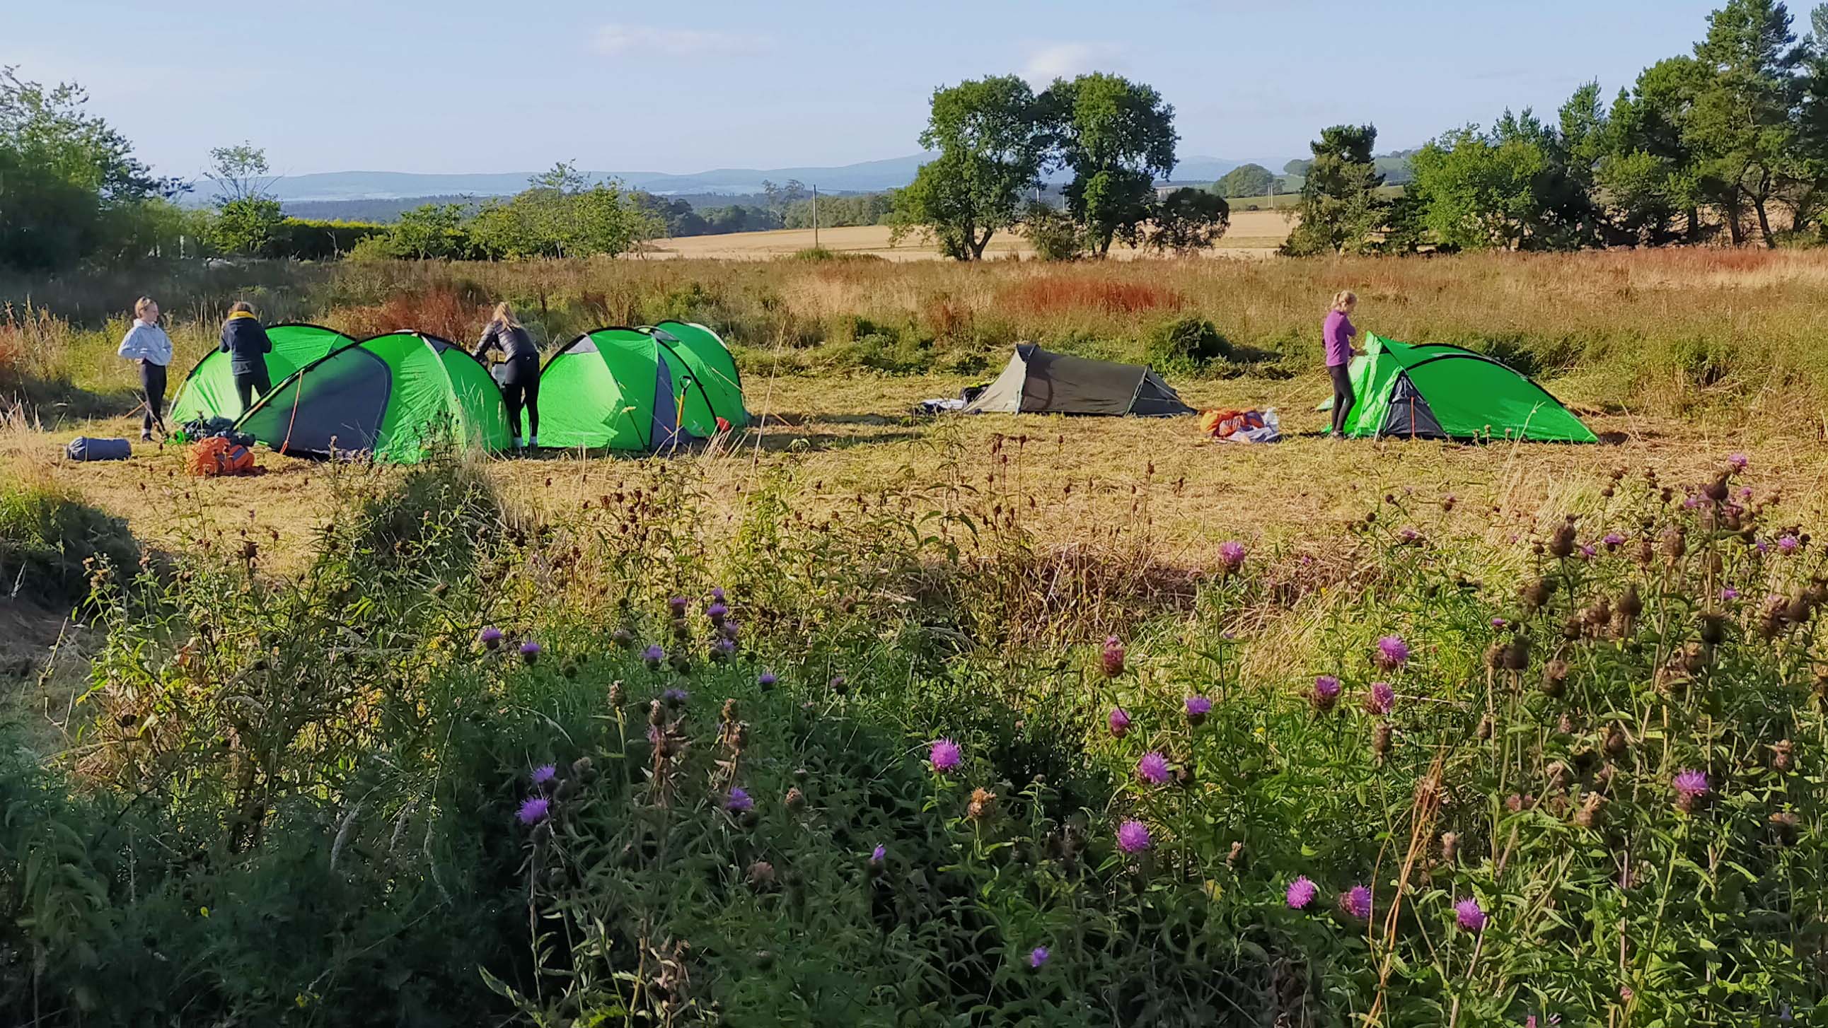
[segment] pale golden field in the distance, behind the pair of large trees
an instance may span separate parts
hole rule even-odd
[[[909,237],[901,245],[890,241],[887,225],[856,225],[845,228],[821,228],[819,247],[834,254],[872,254],[890,261],[936,261],[938,247],[930,239]],[[1269,210],[1241,210],[1232,215],[1232,226],[1219,239],[1214,256],[1223,257],[1269,257],[1276,247],[1289,237],[1289,221]],[[812,228],[781,228],[775,232],[731,232],[726,236],[684,236],[678,239],[654,239],[643,256],[647,257],[715,257],[729,261],[760,261],[810,250],[813,247]],[[1015,232],[991,237],[985,257],[1033,257],[1035,248]],[[1130,247],[1113,247],[1111,256],[1133,259],[1141,256]]]

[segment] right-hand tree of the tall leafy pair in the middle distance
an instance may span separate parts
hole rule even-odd
[[[1174,172],[1174,106],[1119,75],[1057,79],[1040,97],[1060,164],[1073,172],[1066,208],[1093,254],[1137,243],[1155,201],[1155,179]]]

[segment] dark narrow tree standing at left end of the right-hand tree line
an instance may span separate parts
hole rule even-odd
[[[1376,195],[1384,175],[1371,157],[1375,146],[1376,128],[1369,124],[1336,124],[1309,144],[1314,157],[1302,181],[1302,201],[1294,212],[1298,221],[1281,247],[1285,254],[1303,257],[1375,248],[1386,214]]]

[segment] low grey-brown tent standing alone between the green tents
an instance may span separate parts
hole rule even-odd
[[[1088,360],[1018,343],[1004,372],[965,404],[965,413],[1164,418],[1194,409],[1141,363]]]

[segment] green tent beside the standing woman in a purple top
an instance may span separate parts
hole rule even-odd
[[[1358,402],[1345,416],[1349,436],[1598,442],[1546,389],[1464,347],[1367,332],[1351,374]]]

